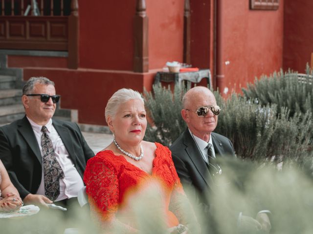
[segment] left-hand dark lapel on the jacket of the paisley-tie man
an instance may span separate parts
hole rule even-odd
[[[31,148],[31,150],[34,152],[35,156],[39,160],[40,164],[42,165],[43,159],[40,153],[39,145],[35,137],[34,131],[28,119],[26,118],[26,116],[21,119],[18,125],[19,125],[18,131],[24,137],[25,141],[27,142],[27,144],[29,145],[29,147]]]

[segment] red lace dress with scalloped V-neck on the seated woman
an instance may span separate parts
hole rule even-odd
[[[131,164],[123,156],[114,155],[110,150],[99,152],[87,162],[84,182],[91,212],[96,212],[106,227],[118,222],[119,225],[124,225],[124,228],[130,229],[128,231],[135,232],[137,226],[130,209],[130,201],[156,179],[161,181],[160,195],[168,227],[184,224],[176,201],[184,192],[172,161],[171,151],[159,143],[155,144],[156,156],[153,160],[152,175]]]

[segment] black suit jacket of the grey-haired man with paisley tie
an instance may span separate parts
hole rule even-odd
[[[86,162],[94,153],[79,127],[76,123],[57,119],[53,119],[52,124],[79,175],[83,177]],[[0,159],[22,199],[29,193],[36,194],[42,178],[42,156],[26,116],[0,127]]]

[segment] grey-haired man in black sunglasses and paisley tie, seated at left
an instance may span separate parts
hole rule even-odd
[[[68,206],[84,186],[94,156],[77,124],[53,119],[60,96],[48,78],[30,78],[22,90],[25,117],[0,127],[0,159],[25,204]]]

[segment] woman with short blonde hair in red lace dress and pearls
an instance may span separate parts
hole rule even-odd
[[[194,215],[190,215],[191,207],[186,211],[179,202],[185,194],[170,150],[143,140],[147,119],[141,95],[131,89],[116,91],[108,101],[105,117],[114,135],[113,142],[89,159],[84,174],[91,210],[98,214],[104,227],[118,227],[123,233],[142,231],[132,212],[132,201],[157,180],[157,194],[162,201],[159,207],[163,209],[168,233],[198,230],[197,222],[192,220]],[[145,205],[139,201],[139,206],[149,209]]]

